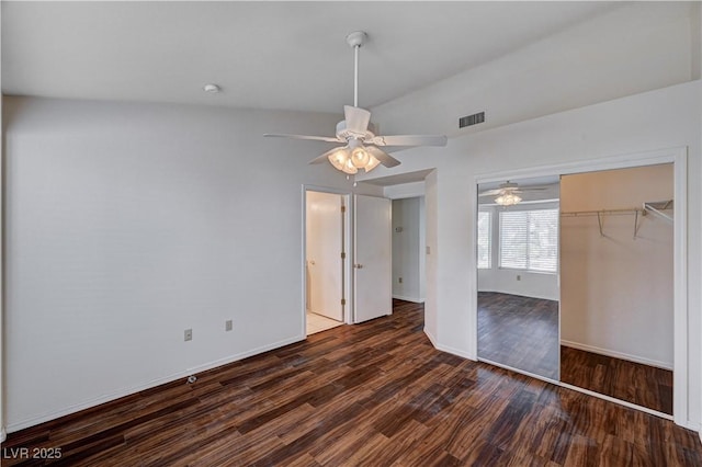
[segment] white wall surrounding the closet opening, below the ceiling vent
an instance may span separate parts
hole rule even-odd
[[[427,239],[435,263],[430,263],[428,257],[424,312],[432,341],[440,349],[475,358],[476,273],[471,246],[476,176],[687,146],[689,406],[686,415],[688,426],[698,429],[702,402],[701,98],[702,83],[693,81],[451,139],[446,148],[403,151],[403,164],[396,171],[435,169],[431,195],[427,179]],[[378,169],[373,175],[387,173]],[[430,272],[435,274],[435,282],[429,276]]]

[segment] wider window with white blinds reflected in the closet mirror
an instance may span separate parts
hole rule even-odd
[[[501,212],[500,267],[555,273],[558,209]]]

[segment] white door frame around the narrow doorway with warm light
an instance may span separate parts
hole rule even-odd
[[[318,185],[307,185],[304,184],[302,186],[302,213],[303,213],[303,217],[302,217],[302,258],[301,258],[301,264],[302,264],[302,283],[303,283],[303,287],[302,287],[302,322],[303,322],[303,327],[302,327],[302,335],[306,337],[307,335],[307,310],[306,310],[306,305],[307,305],[307,274],[306,274],[306,265],[307,265],[307,192],[317,192],[317,193],[328,193],[328,194],[337,194],[340,195],[343,200],[343,205],[346,206],[346,213],[343,214],[343,229],[342,229],[342,235],[343,235],[343,249],[344,252],[347,253],[346,255],[346,260],[343,262],[343,269],[342,269],[342,273],[343,273],[343,278],[342,278],[342,284],[343,284],[343,293],[342,295],[346,297],[346,305],[343,306],[343,323],[346,324],[352,324],[353,323],[353,316],[351,310],[353,309],[353,294],[351,294],[351,292],[353,291],[353,273],[351,271],[351,263],[352,263],[352,259],[353,259],[353,251],[352,247],[353,247],[353,242],[351,241],[351,232],[352,232],[352,216],[351,213],[353,210],[353,206],[352,206],[352,196],[351,196],[351,192],[350,191],[344,191],[344,190],[337,190],[337,189],[331,189],[328,186],[318,186]]]

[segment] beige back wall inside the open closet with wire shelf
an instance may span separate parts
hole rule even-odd
[[[564,213],[672,200],[672,164],[564,175]],[[633,215],[561,219],[561,339],[566,345],[672,369],[673,229]]]

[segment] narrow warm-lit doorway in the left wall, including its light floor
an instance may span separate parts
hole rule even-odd
[[[305,332],[346,321],[348,196],[305,192]]]

